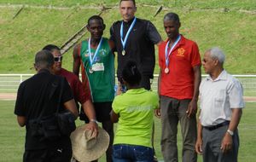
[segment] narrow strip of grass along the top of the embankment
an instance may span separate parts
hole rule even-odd
[[[136,0],[137,5],[163,5],[165,7],[176,7],[186,9],[216,9],[216,8],[228,8],[228,9],[255,9],[256,2],[253,0]],[[76,6],[76,5],[118,5],[119,0],[1,0],[0,4],[30,4],[30,5],[52,5],[52,6]]]

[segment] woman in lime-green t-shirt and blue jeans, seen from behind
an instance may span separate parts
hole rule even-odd
[[[118,122],[113,141],[113,162],[152,162],[154,159],[151,136],[159,97],[139,86],[141,78],[136,62],[127,61],[122,71],[127,91],[114,98],[110,113],[112,122]]]

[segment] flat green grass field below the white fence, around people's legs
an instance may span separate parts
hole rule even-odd
[[[24,152],[25,128],[20,128],[14,115],[15,101],[0,101],[0,162],[20,162]],[[243,110],[241,123],[239,124],[240,133],[240,162],[254,162],[256,158],[256,102],[247,102]],[[77,122],[81,124],[81,122]],[[181,136],[178,133],[179,161],[181,161]],[[160,153],[160,120],[155,119],[154,147],[159,159]],[[102,157],[101,162],[105,159]],[[198,161],[201,162],[201,156]]]

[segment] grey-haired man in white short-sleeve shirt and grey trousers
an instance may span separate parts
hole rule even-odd
[[[224,70],[221,49],[208,49],[202,61],[209,74],[200,85],[201,110],[195,150],[207,162],[236,162],[237,125],[241,119],[243,90],[238,79]]]

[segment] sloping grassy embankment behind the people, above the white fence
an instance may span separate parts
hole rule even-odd
[[[118,1],[79,1],[79,5],[99,6],[104,4],[118,7]],[[33,73],[31,70],[35,53],[48,43],[61,46],[82,26],[92,14],[100,9],[79,8],[77,1],[30,1],[0,0],[4,4],[54,5],[70,9],[24,8],[13,19],[20,8],[3,7],[0,9],[0,73]],[[153,17],[156,9],[164,4],[165,9]],[[143,6],[144,5],[144,6]],[[148,6],[150,5],[150,6]],[[151,20],[163,39],[166,34],[162,26],[163,16],[170,11],[180,15],[180,32],[198,43],[201,55],[212,46],[224,49],[227,55],[225,68],[232,74],[256,73],[256,14],[254,0],[154,0],[137,1],[137,17]],[[254,6],[254,7],[253,7]],[[244,12],[246,11],[246,12]],[[108,9],[102,14],[107,25],[104,36],[109,37],[109,27],[113,21],[120,20],[117,8]],[[88,38],[86,34],[84,38]],[[83,38],[83,39],[84,39]],[[156,60],[157,60],[156,56]],[[72,69],[72,50],[64,57],[63,67]],[[155,73],[159,72],[156,61]]]

